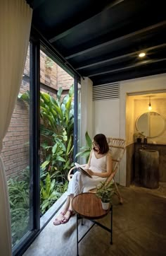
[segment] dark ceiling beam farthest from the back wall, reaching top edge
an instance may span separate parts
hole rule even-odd
[[[103,8],[100,8],[100,9],[96,9],[95,15],[93,16],[86,16],[86,15],[82,15],[82,21],[81,23],[84,23],[84,22],[87,22],[89,21],[91,18],[94,18],[96,15],[98,15],[98,13],[102,13],[103,11],[106,11],[107,9],[109,8],[112,8],[113,6],[117,5],[117,4],[120,4],[122,1],[124,0],[115,0],[113,2],[111,2],[110,4],[107,4],[106,6],[104,6]],[[68,30],[65,30],[63,31],[62,33],[59,33],[58,35],[54,36],[53,38],[51,38],[49,40],[49,42],[53,43],[53,42],[56,42],[57,40],[60,40],[61,38],[65,37],[66,35],[69,35],[70,33],[72,33],[73,30],[75,30],[75,28],[77,28],[77,26],[80,25],[80,21],[76,21],[75,25],[72,26],[72,28],[68,28]]]

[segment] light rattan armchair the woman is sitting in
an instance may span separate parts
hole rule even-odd
[[[113,172],[111,173],[110,177],[108,177],[108,179],[106,180],[106,185],[108,185],[108,183],[113,182],[115,185],[115,192],[117,194],[117,197],[120,200],[120,204],[122,204],[123,200],[122,200],[122,196],[120,195],[120,191],[117,187],[117,183],[114,180],[115,174],[117,173],[117,170],[119,170],[120,168],[120,161],[122,160],[122,156],[125,153],[125,139],[119,139],[119,138],[112,138],[112,137],[108,137],[108,145],[110,148],[110,153],[113,157]],[[71,168],[69,173],[68,173],[68,180],[70,180],[72,178],[72,172],[73,170],[76,169],[76,166]],[[89,190],[89,192],[96,192],[96,188]]]

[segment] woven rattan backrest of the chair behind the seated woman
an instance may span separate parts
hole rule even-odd
[[[126,141],[125,139],[108,137],[108,145],[110,153],[113,156],[113,172],[117,172],[122,156],[125,153]]]

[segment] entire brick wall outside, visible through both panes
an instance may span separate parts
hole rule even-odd
[[[46,54],[41,52],[41,71],[40,81],[52,88],[58,90],[62,87],[65,94],[74,83],[74,79],[60,68],[55,62],[51,62],[51,66],[46,65]],[[24,74],[30,76],[30,47],[27,52]],[[30,85],[26,81],[22,81],[20,93],[25,93],[30,90]],[[50,93],[55,96],[51,89],[42,88],[41,91]],[[64,93],[63,93],[64,94]],[[8,132],[4,138],[4,147],[1,151],[1,156],[4,160],[7,178],[20,175],[29,163],[29,142],[30,142],[30,117],[29,107],[22,100],[17,100],[15,109],[11,117],[11,124],[8,127]]]

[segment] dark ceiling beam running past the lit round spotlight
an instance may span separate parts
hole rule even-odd
[[[135,55],[139,54],[141,51],[148,52],[148,51],[156,50],[156,49],[159,49],[159,48],[162,48],[162,47],[166,47],[166,44],[155,45],[153,47],[148,47],[146,49],[142,49],[142,50],[139,50],[139,51],[136,51],[136,52],[129,52],[127,54],[123,54],[123,55],[120,55],[120,56],[117,56],[117,57],[113,57],[113,58],[110,58],[110,59],[105,59],[101,62],[95,62],[95,63],[87,64],[87,65],[84,65],[84,66],[79,66],[79,67],[76,67],[75,69],[80,70],[80,69],[89,68],[91,66],[98,66],[98,65],[101,65],[101,64],[106,64],[108,62],[113,62],[113,61],[118,60],[118,59],[124,59],[126,57],[135,56]]]

